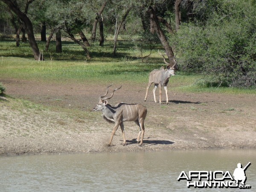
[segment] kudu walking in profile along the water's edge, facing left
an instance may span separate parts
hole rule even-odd
[[[112,85],[113,84],[109,85],[108,88]],[[116,90],[119,90],[121,87],[114,89],[110,97],[105,97],[108,95],[108,88],[107,88],[107,93],[104,96],[100,96],[99,103],[98,103],[98,105],[95,106],[95,108],[93,110],[94,111],[102,111],[103,118],[106,121],[115,124],[113,131],[112,131],[111,139],[108,143],[108,146],[111,145],[111,141],[112,141],[113,136],[114,136],[119,125],[122,130],[122,136],[123,136],[123,140],[124,140],[123,144],[125,145],[125,143],[126,143],[125,129],[124,129],[124,124],[123,124],[123,122],[125,122],[125,121],[134,121],[140,127],[140,132],[137,137],[137,143],[139,143],[140,135],[142,135],[141,141],[140,141],[140,145],[142,145],[144,132],[145,132],[144,120],[147,115],[147,108],[145,108],[143,105],[140,105],[137,103],[119,103],[114,107],[112,107],[111,105],[108,104],[108,99],[111,99],[113,97],[114,92]]]

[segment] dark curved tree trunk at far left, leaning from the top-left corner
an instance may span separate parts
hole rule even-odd
[[[14,4],[11,0],[2,0],[4,3],[9,6],[9,8],[18,16],[20,17],[20,20],[23,23],[23,27],[26,30],[29,38],[29,44],[30,47],[32,48],[32,52],[34,55],[35,60],[40,60],[39,58],[39,48],[38,44],[35,41],[35,36],[34,36],[34,31],[33,31],[33,26],[29,18],[24,14],[23,12],[20,11],[18,6]],[[32,3],[33,0],[30,1]]]

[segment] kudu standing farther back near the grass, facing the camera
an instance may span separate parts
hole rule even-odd
[[[158,50],[159,52],[159,50]],[[162,55],[160,52],[159,52],[160,55]],[[162,96],[162,87],[164,87],[164,90],[166,92],[166,103],[169,102],[168,100],[168,93],[167,93],[167,84],[169,82],[169,78],[171,76],[174,76],[175,75],[175,66],[177,65],[177,62],[175,61],[175,56],[173,58],[173,65],[170,66],[170,64],[165,60],[165,57],[164,55],[163,56],[163,61],[168,64],[167,65],[167,69],[165,70],[164,67],[161,67],[160,70],[153,70],[151,71],[151,73],[149,74],[149,79],[148,79],[148,87],[147,87],[147,91],[146,91],[146,96],[145,96],[145,101],[147,100],[147,96],[148,96],[148,89],[149,87],[151,86],[152,83],[154,83],[154,88],[153,88],[153,95],[154,95],[154,102],[157,102],[156,100],[156,89],[159,85],[159,103],[162,103],[161,101],[161,96]]]

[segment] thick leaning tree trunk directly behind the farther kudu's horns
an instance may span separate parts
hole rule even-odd
[[[155,10],[152,7],[149,7],[149,9],[150,9],[150,20],[151,20],[150,23],[152,24],[152,28],[154,28],[155,32],[157,32],[157,36],[160,39],[163,45],[163,48],[165,49],[165,52],[169,58],[169,64],[173,66],[175,63],[173,59],[174,54],[173,54],[172,48],[169,46],[166,36],[164,35],[162,29],[160,28]]]

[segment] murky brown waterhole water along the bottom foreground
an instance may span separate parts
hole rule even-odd
[[[0,191],[241,191],[187,188],[185,171],[229,171],[245,166],[256,189],[256,150],[161,151],[0,157]]]

